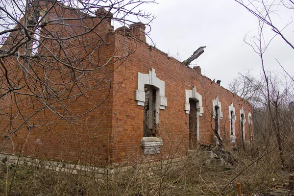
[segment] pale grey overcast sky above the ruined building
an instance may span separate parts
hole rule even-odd
[[[151,23],[149,33],[156,48],[169,53],[180,61],[186,60],[200,46],[205,52],[191,64],[197,64],[202,74],[228,87],[228,82],[251,69],[259,75],[261,63],[259,56],[243,39],[257,34],[258,21],[245,8],[234,0],[157,0],[158,4],[141,7],[152,12],[156,19]],[[288,12],[287,12],[288,11]],[[292,11],[292,10],[290,10]],[[278,12],[275,22],[284,26],[290,20],[289,10]],[[292,38],[291,24],[284,33]],[[267,27],[266,39],[274,34]],[[148,41],[151,44],[150,41]],[[294,51],[280,37],[275,37],[265,53],[266,69],[279,70],[277,58],[284,68],[294,75]]]

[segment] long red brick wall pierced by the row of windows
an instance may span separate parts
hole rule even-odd
[[[165,97],[168,106],[160,110],[159,137],[164,140],[162,153],[149,156],[150,159],[185,154],[189,139],[189,114],[185,113],[185,90],[196,91],[202,95],[203,116],[199,117],[199,135],[201,143],[214,142],[214,119],[212,119],[212,100],[219,97],[221,102],[221,137],[230,144],[229,105],[234,104],[235,134],[238,142],[241,138],[240,109],[245,111],[245,139],[249,141],[247,116],[252,114],[251,105],[244,99],[224,89],[206,76],[187,68],[166,53],[149,47],[146,43],[130,36],[116,34],[116,48],[121,53],[134,51],[127,61],[120,64],[114,73],[113,103],[113,151],[111,162],[133,161],[143,157],[141,139],[143,137],[143,106],[135,101],[138,89],[138,72],[149,73],[153,68],[157,77],[165,81]]]

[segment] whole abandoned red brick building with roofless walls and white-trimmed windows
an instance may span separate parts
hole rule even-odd
[[[61,10],[64,18],[75,17],[76,13],[70,9],[57,6],[46,15],[47,21],[58,18]],[[28,83],[27,87],[18,90],[16,98],[1,98],[0,139],[5,143],[2,152],[105,165],[184,155],[197,143],[218,143],[214,130],[227,146],[252,141],[249,102],[202,75],[200,67],[190,68],[149,46],[143,23],[114,30],[111,17],[111,13],[99,9],[96,17],[83,20],[89,26],[98,24],[83,37],[84,43],[93,41],[88,46],[79,47],[84,44],[80,40],[64,41],[67,46],[63,52],[71,53],[69,64],[76,68],[73,73],[79,74],[75,77],[76,85],[71,87],[63,81],[67,71],[63,76],[59,69],[67,65],[53,57],[44,57],[49,49],[60,52],[57,41],[39,40],[42,44],[34,51],[38,55],[31,57],[37,60],[31,61],[28,68],[34,70],[30,74],[35,77],[19,77],[18,85]],[[82,31],[67,28],[47,24],[40,34],[52,35],[64,29],[68,34]],[[19,41],[18,33],[16,30],[10,34],[2,52]],[[22,60],[18,58],[10,55],[2,60],[9,68],[8,75],[14,78],[24,75],[20,72]],[[78,72],[77,68],[82,71]],[[45,80],[50,80],[51,88],[57,89],[52,98],[56,94],[60,99],[65,97],[60,101],[62,105],[58,101],[50,102],[49,98],[30,96],[32,91],[34,95],[48,94]],[[1,81],[7,83],[3,78]],[[58,85],[61,81],[62,85]],[[68,88],[71,88],[69,95],[75,96],[65,95]],[[22,104],[16,104],[20,100]]]

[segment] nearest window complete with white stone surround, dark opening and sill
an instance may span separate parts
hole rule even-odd
[[[137,105],[143,106],[143,138],[141,140],[144,155],[160,153],[163,140],[158,136],[159,111],[168,105],[165,97],[165,82],[160,80],[151,69],[149,73],[138,72]]]

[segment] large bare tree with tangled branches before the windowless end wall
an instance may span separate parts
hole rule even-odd
[[[0,151],[20,130],[22,145],[32,131],[57,125],[98,137],[94,130],[107,118],[97,114],[107,116],[114,65],[135,50],[115,49],[111,20],[148,25],[154,17],[140,7],[151,2],[1,0]]]

